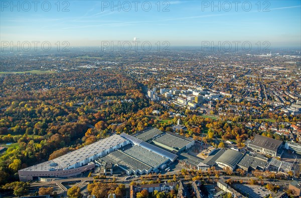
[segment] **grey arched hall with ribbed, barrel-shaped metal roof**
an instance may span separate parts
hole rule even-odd
[[[216,162],[224,163],[234,168],[242,156],[243,156],[242,153],[236,150],[228,149],[220,157],[216,159]]]

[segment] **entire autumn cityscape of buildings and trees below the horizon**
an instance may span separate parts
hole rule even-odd
[[[2,51],[0,197],[300,197],[301,54]]]

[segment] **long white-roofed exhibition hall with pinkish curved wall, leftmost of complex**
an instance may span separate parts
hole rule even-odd
[[[75,176],[93,169],[93,160],[129,143],[129,140],[115,134],[55,159],[23,168],[18,171],[19,178],[20,181],[28,181],[39,177]]]

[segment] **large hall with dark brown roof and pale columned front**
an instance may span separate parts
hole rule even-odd
[[[278,153],[282,145],[282,141],[255,134],[254,139],[248,143],[248,147],[255,151],[263,152],[271,156],[281,156]]]

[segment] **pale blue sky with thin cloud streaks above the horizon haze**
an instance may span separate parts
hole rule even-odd
[[[31,0],[27,1],[31,8],[24,1],[14,1],[17,6],[13,7],[11,0],[1,0],[0,39],[66,40],[71,46],[100,45],[103,40],[131,41],[134,37],[152,43],[169,41],[171,45],[233,40],[269,41],[271,47],[301,45],[301,0],[240,0],[237,7],[232,0],[138,1],[135,10],[135,2],[128,0],[131,8],[126,11],[128,3],[124,1],[114,1],[114,4],[120,3],[118,10],[111,0],[49,0],[51,8],[45,11],[48,9],[45,1],[39,1],[35,10]],[[146,11],[148,2],[152,8]],[[212,3],[217,6],[213,7]],[[69,11],[62,11],[66,6]],[[166,6],[168,10],[163,11]],[[27,9],[29,11],[25,11]]]

